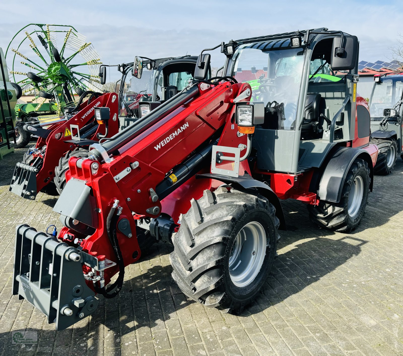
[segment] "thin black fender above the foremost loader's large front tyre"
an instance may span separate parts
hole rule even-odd
[[[266,197],[268,201],[273,204],[274,208],[276,208],[276,217],[278,217],[278,220],[280,220],[280,227],[278,229],[286,230],[284,212],[280,204],[280,199],[278,199],[276,193],[274,193],[272,188],[270,188],[267,184],[253,179],[250,175],[228,177],[221,174],[205,173],[197,174],[196,178],[216,179],[218,181],[222,181],[223,183],[231,184],[234,188],[247,191],[249,190],[252,194],[253,190],[258,189],[259,194],[262,194],[262,196]]]

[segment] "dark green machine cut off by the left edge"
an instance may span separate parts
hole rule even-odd
[[[15,83],[10,83],[6,59],[0,48],[0,159],[5,154],[14,152],[14,108],[19,96],[21,96],[21,88]]]

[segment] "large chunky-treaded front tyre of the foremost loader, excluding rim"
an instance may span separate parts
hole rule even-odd
[[[264,216],[272,227],[267,235],[268,250],[261,272],[250,283],[251,289],[237,295],[233,292],[237,287],[231,282],[226,261],[237,229],[249,222],[248,214],[253,213]],[[261,195],[234,189],[228,192],[226,187],[219,187],[214,193],[205,190],[202,198],[191,200],[191,208],[180,217],[179,231],[172,235],[172,278],[186,296],[204,306],[222,312],[241,312],[256,298],[270,273],[280,238],[277,233],[280,222],[275,214],[274,206]]]

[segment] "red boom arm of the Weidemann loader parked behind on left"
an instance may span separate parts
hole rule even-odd
[[[78,125],[79,130],[94,120],[94,108],[108,107],[110,109],[110,120],[108,120],[108,136],[111,137],[118,132],[119,122],[118,113],[118,96],[115,93],[106,93],[93,99],[89,104],[88,100],[80,106],[80,111],[69,120],[57,123],[48,128],[52,131],[46,139],[39,137],[35,148],[39,150],[46,146],[46,152],[43,157],[44,162],[42,168],[36,175],[36,187],[39,192],[45,185],[50,183],[54,177],[54,168],[58,165],[60,157],[64,156],[67,151],[73,151],[79,147],[72,142],[71,135],[65,135],[66,129],[70,130],[70,125]],[[99,124],[98,128],[88,139],[96,139],[98,133],[105,133],[105,124]],[[39,154],[33,154],[39,156]]]

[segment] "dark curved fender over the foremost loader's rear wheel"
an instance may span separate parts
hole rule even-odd
[[[361,158],[368,163],[370,168],[370,190],[374,181],[374,167],[370,154],[362,148],[339,147],[330,153],[322,178],[320,179],[318,196],[320,200],[338,203],[341,199],[341,191],[351,164],[356,158]]]

